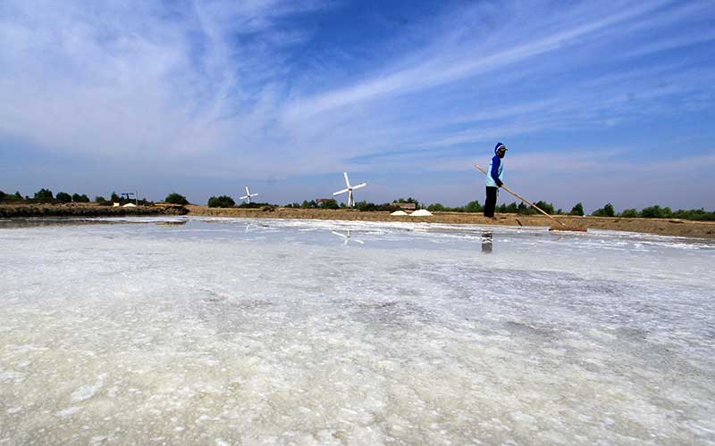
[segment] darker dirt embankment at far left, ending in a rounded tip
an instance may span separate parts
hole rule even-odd
[[[185,215],[183,206],[99,206],[95,203],[0,204],[0,218],[18,217],[125,217],[142,215]]]

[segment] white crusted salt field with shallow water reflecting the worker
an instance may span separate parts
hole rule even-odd
[[[0,445],[715,444],[713,241],[101,221],[0,228]]]

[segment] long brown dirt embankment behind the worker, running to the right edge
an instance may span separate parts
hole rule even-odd
[[[486,219],[482,214],[466,212],[434,212],[432,217],[398,217],[390,212],[360,212],[355,210],[322,210],[278,208],[274,211],[241,208],[208,208],[187,206],[189,215],[215,217],[244,217],[253,219],[336,219],[363,221],[424,221],[461,225],[504,225],[556,227],[551,219],[543,215],[497,214],[496,219]],[[568,227],[610,229],[614,231],[642,232],[658,235],[680,235],[686,237],[715,238],[715,222],[680,219],[624,219],[608,217],[557,217]]]

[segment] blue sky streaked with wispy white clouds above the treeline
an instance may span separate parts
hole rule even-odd
[[[715,209],[715,4],[0,2],[0,190]],[[501,195],[501,201],[512,200]]]

